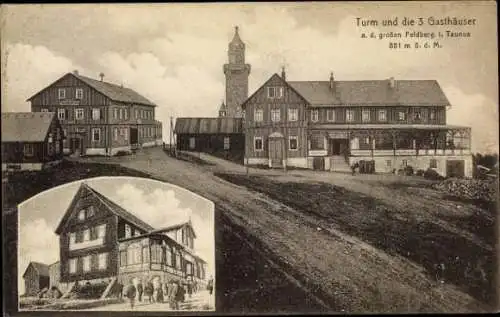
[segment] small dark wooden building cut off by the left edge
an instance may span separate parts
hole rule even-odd
[[[2,171],[39,171],[63,158],[63,130],[54,113],[2,113]]]

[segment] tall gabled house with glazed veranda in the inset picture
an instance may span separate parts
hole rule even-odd
[[[179,232],[179,233],[178,233]],[[155,229],[83,183],[61,219],[60,282],[205,280],[190,221]],[[177,240],[177,235],[179,239]],[[71,286],[69,286],[71,288]]]

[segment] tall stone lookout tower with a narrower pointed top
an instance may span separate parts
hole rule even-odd
[[[229,43],[229,63],[224,64],[226,75],[226,107],[228,117],[242,116],[241,104],[248,98],[248,75],[250,64],[245,64],[245,43],[234,28],[233,40]]]

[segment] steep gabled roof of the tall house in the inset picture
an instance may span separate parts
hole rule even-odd
[[[114,213],[118,217],[134,224],[135,226],[139,227],[140,229],[142,229],[146,232],[154,230],[154,228],[152,226],[150,226],[149,224],[147,224],[146,222],[142,221],[141,219],[139,219],[138,217],[136,217],[132,213],[128,212],[127,210],[125,210],[124,208],[122,208],[121,206],[116,204],[115,202],[111,201],[109,198],[107,198],[104,195],[102,195],[101,193],[97,192],[95,189],[91,188],[89,185],[82,183],[80,185],[80,188],[76,192],[75,196],[73,197],[73,200],[71,201],[68,209],[66,210],[66,213],[64,214],[63,218],[59,222],[59,225],[57,226],[56,231],[55,231],[56,234],[60,234],[62,231],[62,228],[68,222],[69,217],[71,216],[71,211],[73,210],[74,205],[76,204],[76,201],[80,197],[80,193],[83,190],[90,191],[95,197],[97,197],[109,209],[109,211],[111,211],[112,213]]]

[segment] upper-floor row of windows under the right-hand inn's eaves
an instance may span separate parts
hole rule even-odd
[[[288,109],[288,121],[297,121],[298,120],[298,109]],[[397,118],[400,121],[406,120],[407,113],[405,111],[399,111],[397,112]],[[422,113],[417,111],[414,113],[415,120],[420,120],[422,119]],[[436,111],[431,110],[429,114],[429,118],[431,120],[434,120],[436,118]],[[346,121],[352,122],[354,121],[354,110],[346,110],[346,116],[345,116]],[[333,109],[328,109],[326,111],[326,120],[327,121],[336,121],[335,117],[335,110]],[[368,122],[370,121],[370,110],[362,110],[361,112],[361,120],[363,122]],[[256,109],[254,113],[254,121],[256,122],[262,122],[264,121],[264,111],[262,109]],[[272,122],[279,122],[281,121],[281,109],[274,108],[271,109],[271,121]],[[319,121],[319,110],[313,109],[311,110],[311,121],[317,122]],[[387,121],[387,110],[379,110],[378,111],[378,121]]]

